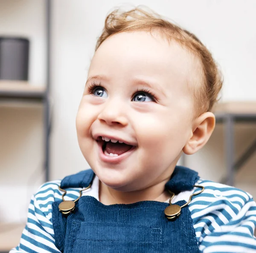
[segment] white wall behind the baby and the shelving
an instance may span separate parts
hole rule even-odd
[[[87,70],[106,14],[123,2],[118,0],[52,0],[52,88],[54,102],[51,136],[51,179],[87,168],[76,139],[75,118],[87,78]],[[222,100],[256,100],[256,1],[254,0],[137,0],[195,33],[212,51],[224,72]],[[0,0],[0,34],[29,36],[32,41],[29,80],[45,82],[44,0]],[[42,109],[0,107],[0,196],[20,208],[7,211],[0,205],[0,222],[26,218],[34,188],[42,182]],[[256,138],[255,125],[236,127],[236,155]],[[225,173],[223,131],[218,126],[207,146],[186,159],[204,178],[218,180]],[[14,134],[15,133],[15,134]],[[12,141],[10,141],[12,139]],[[7,148],[6,148],[7,147]],[[236,177],[236,185],[256,196],[256,156]],[[10,181],[12,179],[12,181]],[[28,182],[30,182],[28,184]],[[21,210],[21,211],[20,211]]]

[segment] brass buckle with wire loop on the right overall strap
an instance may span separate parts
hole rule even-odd
[[[192,196],[198,195],[200,193],[202,193],[204,191],[204,186],[201,185],[193,185],[193,187],[198,187],[198,188],[202,188],[202,190],[198,191],[197,193],[193,193],[190,197],[189,197],[189,201],[186,202],[186,204],[179,206],[179,205],[173,205],[172,204],[172,199],[174,198],[175,194],[168,190],[169,193],[172,194],[170,200],[169,200],[169,206],[164,210],[164,214],[166,215],[166,218],[169,220],[175,220],[176,218],[178,218],[180,216],[180,212],[181,212],[181,208],[184,208],[185,206],[189,205],[189,203],[191,202]]]

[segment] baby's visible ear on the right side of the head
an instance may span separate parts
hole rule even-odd
[[[215,116],[212,112],[205,112],[196,118],[192,125],[192,133],[183,147],[183,152],[192,155],[203,148],[208,142],[215,128]]]

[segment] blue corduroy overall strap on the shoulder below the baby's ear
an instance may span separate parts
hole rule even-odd
[[[192,190],[198,179],[198,172],[183,166],[176,166],[171,179],[166,183],[165,187],[178,194],[185,190]]]

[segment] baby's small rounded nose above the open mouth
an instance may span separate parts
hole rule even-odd
[[[102,111],[98,115],[100,121],[106,122],[108,125],[122,125],[128,124],[128,119],[125,114],[125,105],[120,101],[114,99],[108,100],[103,105]]]

